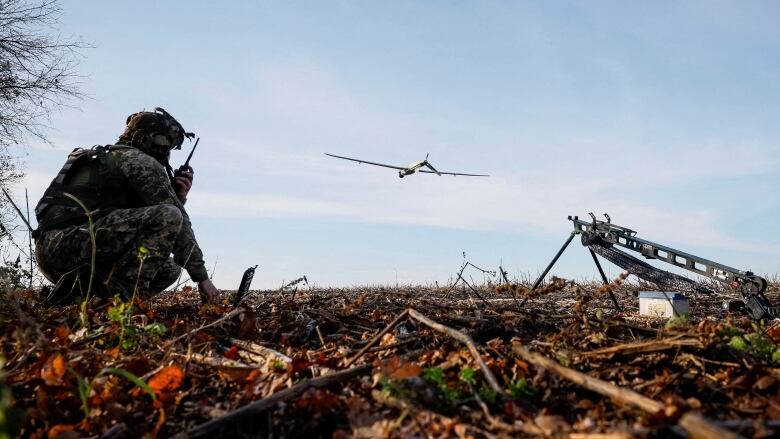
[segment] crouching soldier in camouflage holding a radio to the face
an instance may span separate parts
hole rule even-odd
[[[192,168],[174,173],[168,163],[171,150],[193,136],[156,108],[130,115],[116,145],[68,156],[35,208],[35,252],[55,284],[52,302],[83,297],[90,276],[93,295],[148,298],[175,282],[181,267],[198,283],[204,303],[217,301],[184,209]]]

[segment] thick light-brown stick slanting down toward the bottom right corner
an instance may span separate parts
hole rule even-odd
[[[632,405],[653,415],[664,409],[664,405],[654,399],[650,399],[633,390],[624,389],[598,378],[593,378],[582,372],[569,369],[544,355],[529,351],[517,341],[513,343],[512,351],[536,367],[555,372],[563,378],[566,378],[575,384],[579,384],[588,390],[607,396],[619,404]],[[680,419],[680,426],[694,439],[713,437],[736,439],[741,437],[732,431],[713,424],[698,413],[689,412],[683,415]]]

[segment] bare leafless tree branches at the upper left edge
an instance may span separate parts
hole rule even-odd
[[[52,111],[83,98],[81,77],[75,72],[79,50],[89,46],[60,35],[60,14],[59,0],[0,0],[0,188],[9,188],[24,175],[22,162],[9,148],[29,138],[48,143],[46,124]],[[18,260],[9,265],[8,257],[15,257],[14,251],[8,252],[11,246],[24,254],[13,241],[20,225],[7,201],[0,199],[0,258],[11,271],[20,266]]]

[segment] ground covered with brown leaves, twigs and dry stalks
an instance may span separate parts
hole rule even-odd
[[[770,437],[780,330],[723,311],[638,316],[637,290],[190,288],[0,309],[0,437]],[[618,298],[613,308],[608,293]],[[767,295],[780,298],[773,282]]]

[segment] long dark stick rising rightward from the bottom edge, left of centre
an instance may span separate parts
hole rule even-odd
[[[266,410],[272,409],[276,404],[295,398],[305,391],[314,387],[325,387],[343,380],[347,380],[365,373],[371,372],[373,366],[370,364],[364,364],[362,366],[353,367],[351,369],[345,369],[338,372],[334,372],[330,375],[323,375],[318,378],[307,378],[298,384],[284,389],[273,395],[254,401],[236,410],[228,412],[224,416],[212,419],[208,422],[195,426],[186,432],[180,432],[174,436],[174,438],[201,438],[201,437],[217,437],[222,429],[235,426],[240,420],[257,415]]]

